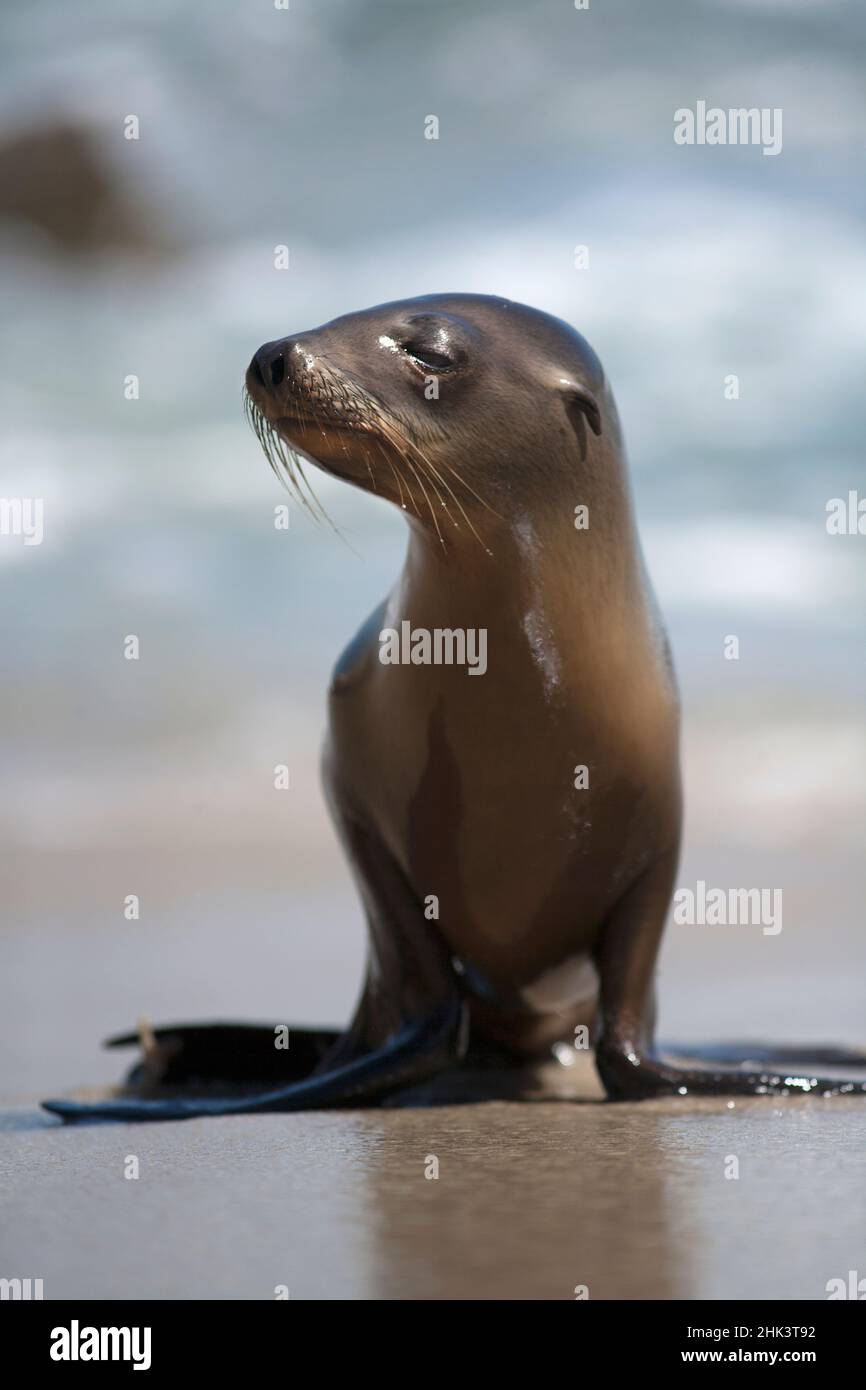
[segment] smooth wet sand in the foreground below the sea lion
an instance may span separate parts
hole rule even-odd
[[[3,1272],[46,1298],[820,1300],[866,1268],[851,1099],[3,1127]]]

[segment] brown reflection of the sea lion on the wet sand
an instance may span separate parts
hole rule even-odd
[[[603,1105],[585,1059],[559,1072],[562,1104],[388,1113],[370,1173],[373,1297],[684,1295],[689,1252],[674,1248],[669,1222],[670,1120]],[[435,1179],[425,1176],[432,1158]]]

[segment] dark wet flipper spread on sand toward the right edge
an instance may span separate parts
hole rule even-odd
[[[699,1051],[699,1049],[698,1049]],[[785,1049],[788,1051],[788,1049]],[[762,1058],[762,1070],[746,1070],[737,1066],[680,1066],[674,1058],[667,1058],[655,1049],[638,1049],[630,1042],[619,1047],[601,1042],[596,1052],[599,1076],[612,1101],[644,1101],[656,1095],[865,1095],[863,1076],[823,1076],[812,1070],[803,1059],[806,1048],[790,1049],[798,1052],[795,1063],[776,1055]],[[842,1049],[830,1051],[840,1058]],[[692,1056],[694,1054],[688,1054]],[[860,1070],[866,1069],[862,1054],[844,1054],[856,1058]],[[708,1058],[708,1063],[713,1059]],[[716,1059],[721,1061],[721,1059]],[[749,1062],[758,1059],[749,1056]],[[837,1065],[842,1065],[838,1062]]]

